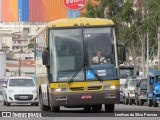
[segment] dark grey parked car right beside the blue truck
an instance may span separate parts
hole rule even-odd
[[[135,103],[143,105],[144,102],[147,102],[147,78],[140,78],[135,89]]]

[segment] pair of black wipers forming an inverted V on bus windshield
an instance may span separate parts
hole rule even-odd
[[[75,74],[71,77],[71,79],[69,80],[68,83],[71,83],[71,82],[74,81],[75,77],[78,75],[78,73],[82,70],[83,67],[87,67],[88,70],[91,70],[91,71],[92,71],[92,73],[94,74],[94,76],[95,76],[98,80],[100,80],[101,82],[103,82],[102,78],[99,77],[99,75],[91,68],[91,66],[82,64],[82,65],[79,67],[78,71],[75,72]],[[86,72],[86,71],[85,71],[85,72]],[[85,80],[86,80],[86,78],[85,78]]]

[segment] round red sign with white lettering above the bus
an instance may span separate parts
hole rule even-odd
[[[86,0],[64,0],[64,5],[71,10],[82,9],[86,4]]]

